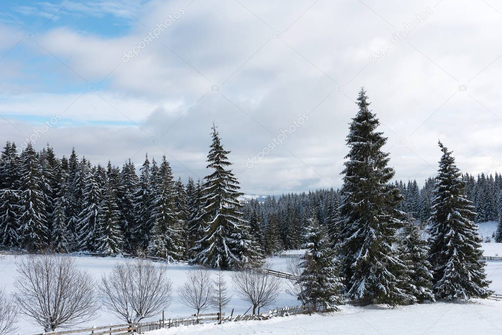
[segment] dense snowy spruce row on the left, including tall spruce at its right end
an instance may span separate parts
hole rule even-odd
[[[57,158],[51,146],[31,143],[18,154],[7,142],[0,156],[0,246],[57,252],[147,253],[169,260],[239,268],[263,252],[241,212],[239,183],[216,127],[209,175],[183,185],[166,159],[148,154],[136,173]]]

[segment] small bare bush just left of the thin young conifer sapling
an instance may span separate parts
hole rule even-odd
[[[207,270],[199,267],[197,270],[191,270],[187,274],[187,281],[178,289],[181,301],[187,307],[197,310],[199,313],[211,302],[211,275]]]

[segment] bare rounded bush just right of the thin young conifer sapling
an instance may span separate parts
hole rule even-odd
[[[253,305],[253,314],[276,301],[281,291],[281,278],[267,275],[269,266],[262,269],[244,269],[232,274],[233,284],[242,300]]]

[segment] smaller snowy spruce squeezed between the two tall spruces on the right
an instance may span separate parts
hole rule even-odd
[[[407,263],[409,278],[406,284],[409,294],[415,297],[415,301],[436,301],[432,292],[432,265],[427,260],[429,247],[421,234],[419,226],[413,223],[408,223],[403,229],[401,253],[403,260]]]

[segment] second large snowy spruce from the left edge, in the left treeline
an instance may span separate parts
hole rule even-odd
[[[38,155],[31,142],[21,153],[21,216],[18,235],[20,246],[42,250],[47,247],[47,217],[42,192],[41,169]]]

